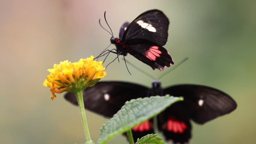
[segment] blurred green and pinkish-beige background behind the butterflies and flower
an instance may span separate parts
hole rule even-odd
[[[79,109],[63,94],[50,99],[42,83],[54,63],[97,56],[110,44],[98,21],[104,12],[117,37],[125,21],[150,9],[170,20],[164,46],[177,63],[189,59],[162,78],[162,86],[201,84],[233,97],[238,107],[206,124],[193,123],[191,144],[252,144],[256,141],[256,1],[71,1],[9,0],[0,2],[0,143],[83,143]],[[109,49],[115,48],[111,45]],[[110,54],[106,64],[116,57]],[[151,75],[146,64],[126,59]],[[124,61],[113,62],[102,80],[122,80],[151,86],[152,79]],[[164,71],[167,71],[166,68]],[[92,139],[108,119],[87,112]],[[118,136],[109,143],[127,143]]]

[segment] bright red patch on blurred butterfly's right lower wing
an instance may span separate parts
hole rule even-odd
[[[187,125],[174,117],[169,117],[166,124],[166,129],[169,132],[183,133],[187,129]]]

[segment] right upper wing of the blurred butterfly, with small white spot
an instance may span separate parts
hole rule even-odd
[[[175,85],[164,89],[164,95],[182,96],[180,103],[196,123],[204,124],[236,109],[236,102],[226,93],[202,85]]]

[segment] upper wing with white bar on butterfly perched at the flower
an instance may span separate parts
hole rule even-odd
[[[163,46],[168,38],[169,20],[163,12],[150,10],[140,14],[125,30],[122,40],[130,44],[133,39],[145,39]],[[120,36],[120,35],[119,35]]]

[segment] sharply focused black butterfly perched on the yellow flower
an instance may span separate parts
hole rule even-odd
[[[173,59],[163,47],[167,42],[168,26],[169,20],[163,12],[144,12],[130,24],[126,22],[122,25],[119,38],[114,38],[112,34],[110,41],[116,45],[114,53],[124,56],[130,53],[153,69],[170,67],[174,64]]]

